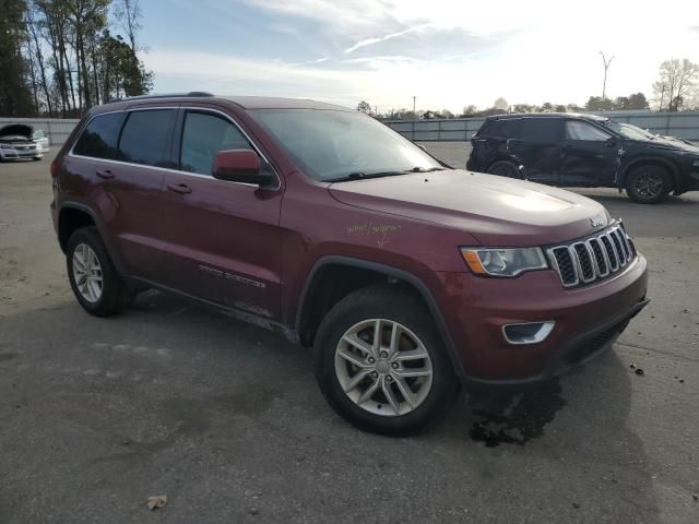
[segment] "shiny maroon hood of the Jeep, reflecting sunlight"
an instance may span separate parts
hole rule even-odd
[[[555,243],[609,222],[602,204],[570,191],[461,169],[335,182],[329,191],[348,205],[461,229],[483,246]]]

